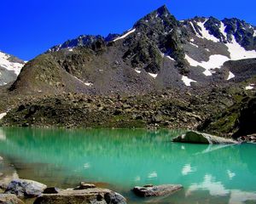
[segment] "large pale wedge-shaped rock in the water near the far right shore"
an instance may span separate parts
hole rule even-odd
[[[207,133],[199,133],[197,131],[189,131],[176,138],[172,142],[195,143],[195,144],[238,144],[236,140],[224,139]]]

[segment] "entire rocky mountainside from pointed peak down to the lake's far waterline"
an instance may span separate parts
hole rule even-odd
[[[246,119],[253,113],[242,108],[252,109],[255,84],[255,26],[235,18],[177,20],[162,6],[122,34],[81,35],[27,62],[15,82],[0,87],[0,120],[180,127],[238,138],[255,133]]]

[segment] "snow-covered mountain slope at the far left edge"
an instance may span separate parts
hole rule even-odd
[[[25,62],[0,51],[0,86],[15,82]]]

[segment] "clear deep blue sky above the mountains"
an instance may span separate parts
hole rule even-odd
[[[255,0],[3,0],[0,50],[32,59],[82,34],[122,33],[163,4],[177,20],[212,15],[256,25]]]

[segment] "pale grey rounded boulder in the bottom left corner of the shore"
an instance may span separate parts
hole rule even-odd
[[[32,180],[26,179],[15,179],[12,180],[5,193],[7,194],[15,194],[18,197],[37,197],[40,195],[47,186],[45,184],[38,183]]]

